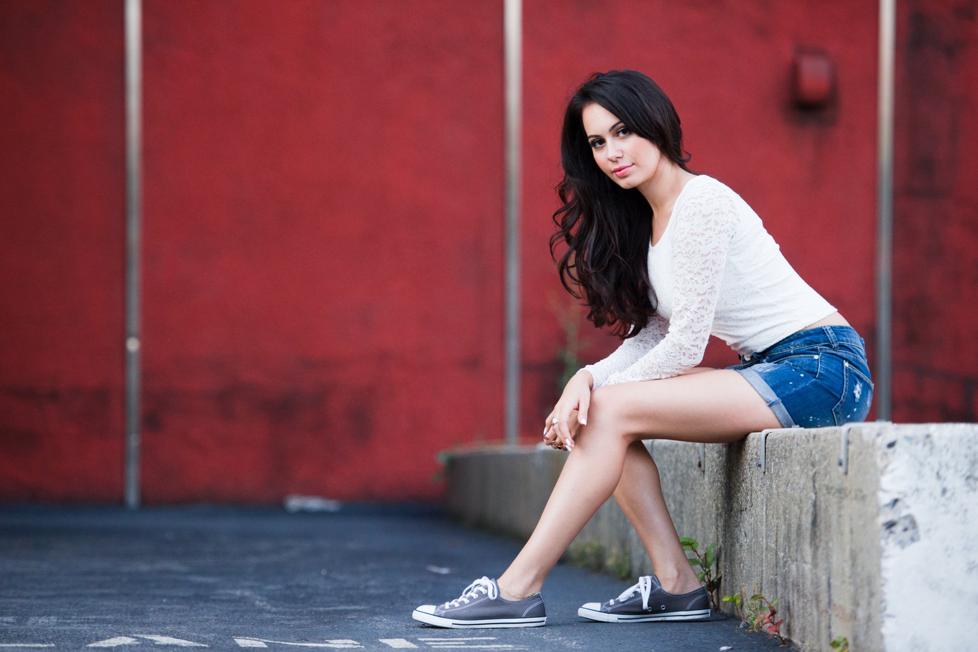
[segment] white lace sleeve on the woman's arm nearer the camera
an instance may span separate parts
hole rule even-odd
[[[606,385],[670,378],[703,360],[736,227],[733,198],[719,184],[704,184],[672,219],[679,221],[673,234],[675,299],[669,330],[651,351],[612,373]]]

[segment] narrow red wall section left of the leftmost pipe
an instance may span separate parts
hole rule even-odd
[[[0,4],[0,500],[119,500],[120,1]]]

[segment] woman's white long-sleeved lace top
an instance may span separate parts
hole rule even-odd
[[[699,365],[710,335],[749,357],[835,312],[795,272],[747,202],[707,175],[687,182],[648,247],[658,314],[584,369],[595,387],[669,378]]]

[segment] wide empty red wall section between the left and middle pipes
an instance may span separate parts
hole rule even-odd
[[[430,497],[498,429],[500,11],[145,2],[146,500]]]

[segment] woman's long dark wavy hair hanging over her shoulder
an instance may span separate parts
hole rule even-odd
[[[588,319],[596,327],[614,325],[612,332],[625,339],[647,326],[656,310],[649,298],[646,265],[652,209],[638,189],[622,189],[595,162],[581,120],[581,112],[592,103],[613,113],[688,172],[689,153],[683,155],[683,130],[672,102],[636,70],[595,72],[564,112],[564,176],[556,187],[563,205],[554,213],[557,232],[551,237],[551,256],[556,260],[557,243],[566,243],[557,261],[560,283],[575,298],[587,300]],[[583,289],[583,297],[575,286]]]

